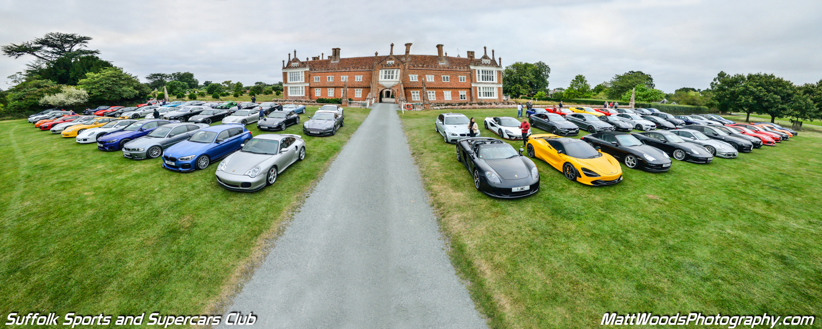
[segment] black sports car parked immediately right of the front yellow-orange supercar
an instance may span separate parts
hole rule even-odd
[[[667,171],[671,169],[671,158],[656,147],[643,144],[626,132],[597,132],[580,138],[591,146],[599,146],[600,151],[612,155],[631,169]]]

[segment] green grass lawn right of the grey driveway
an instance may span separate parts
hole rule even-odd
[[[822,134],[709,165],[674,160],[667,173],[623,166],[621,183],[598,188],[534,160],[541,191],[499,200],[434,132],[447,112],[496,137],[483,118],[516,111],[401,116],[452,261],[493,327],[595,327],[606,312],[820,315]]]

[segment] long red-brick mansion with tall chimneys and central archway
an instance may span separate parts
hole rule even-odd
[[[287,100],[342,98],[383,103],[470,103],[502,100],[501,58],[494,51],[488,57],[476,58],[473,51],[466,57],[448,56],[443,45],[436,45],[436,55],[413,55],[411,44],[405,53],[394,54],[391,44],[387,56],[342,58],[339,48],[324,58],[316,56],[301,61],[294,57],[283,61],[283,90]]]

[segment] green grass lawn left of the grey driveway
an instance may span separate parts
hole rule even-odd
[[[216,163],[179,174],[0,122],[0,313],[215,309],[369,111],[345,109],[334,137],[304,136],[306,159],[252,193],[219,187]]]

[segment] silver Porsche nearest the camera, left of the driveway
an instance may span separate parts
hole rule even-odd
[[[256,191],[273,184],[278,174],[305,157],[306,142],[299,135],[257,135],[219,163],[217,183],[233,191]]]

